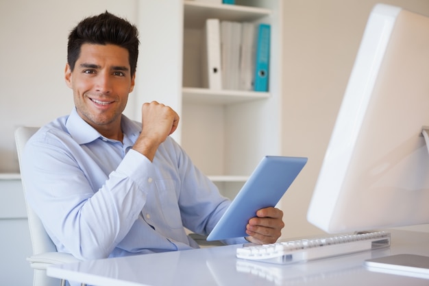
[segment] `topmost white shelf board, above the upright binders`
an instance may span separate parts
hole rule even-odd
[[[271,10],[243,5],[210,4],[184,1],[184,27],[204,27],[206,19],[223,21],[255,21],[271,14]]]

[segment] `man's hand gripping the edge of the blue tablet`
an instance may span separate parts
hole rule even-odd
[[[278,208],[262,208],[256,212],[256,217],[249,219],[246,226],[246,239],[253,243],[274,243],[282,235],[284,222],[283,212]]]

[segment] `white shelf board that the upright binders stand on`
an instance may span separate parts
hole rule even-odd
[[[225,91],[208,88],[182,88],[184,102],[228,105],[267,99],[270,93],[257,91]]]

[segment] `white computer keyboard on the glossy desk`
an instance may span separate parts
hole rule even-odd
[[[333,235],[270,244],[246,244],[237,248],[236,257],[252,261],[289,264],[336,257],[390,246],[391,235],[385,231]]]

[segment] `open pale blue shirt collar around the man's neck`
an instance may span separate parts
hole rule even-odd
[[[76,108],[71,110],[71,114],[66,121],[66,128],[69,130],[73,140],[79,145],[93,142],[99,138],[103,138],[97,130],[90,126],[82,117],[77,113]],[[121,118],[121,128],[124,133],[124,137],[127,136],[133,142],[137,139],[140,134],[141,126],[138,123],[128,119],[125,115]]]

